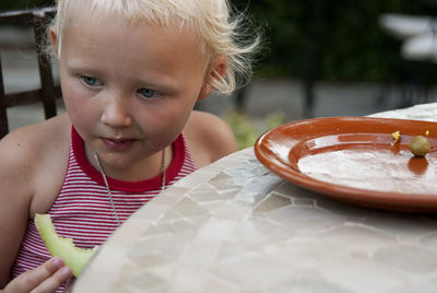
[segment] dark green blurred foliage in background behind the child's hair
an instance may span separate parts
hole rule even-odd
[[[248,1],[234,0],[241,9]],[[432,16],[432,0],[249,0],[264,27],[261,77],[398,82],[411,63],[382,31],[383,13]]]

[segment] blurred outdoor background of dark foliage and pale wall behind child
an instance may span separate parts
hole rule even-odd
[[[437,102],[434,0],[232,3],[249,15],[253,34],[262,32],[253,78],[233,95],[212,96],[197,107],[226,119],[240,148],[288,121],[363,116]],[[2,0],[0,11],[51,4],[47,0]],[[421,50],[406,54],[406,43],[425,33],[428,38]],[[29,30],[0,26],[5,92],[39,85],[32,42]],[[61,103],[59,109],[62,112]],[[44,119],[38,105],[11,108],[8,116],[11,129]]]

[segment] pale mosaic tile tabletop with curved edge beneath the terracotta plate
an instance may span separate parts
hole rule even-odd
[[[437,104],[375,116],[437,120]],[[437,292],[437,215],[300,189],[249,148],[133,214],[73,292]]]

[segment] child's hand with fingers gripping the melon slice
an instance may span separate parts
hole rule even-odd
[[[73,276],[62,259],[54,257],[34,270],[26,271],[13,279],[2,293],[48,293],[55,292],[63,282]]]

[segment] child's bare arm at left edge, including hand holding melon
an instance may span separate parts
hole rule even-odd
[[[39,180],[36,174],[40,174],[43,168],[50,169],[44,163],[46,161],[42,160],[44,152],[39,151],[39,142],[47,138],[38,129],[20,129],[0,141],[0,290],[3,289],[4,293],[29,292],[35,288],[42,290],[40,292],[54,292],[72,276],[71,269],[64,267],[62,260],[55,258],[9,282],[31,218],[31,207],[35,206],[33,200],[38,189],[36,181]],[[47,129],[44,130],[43,132],[49,133]],[[56,173],[57,171],[51,173],[54,180]]]

